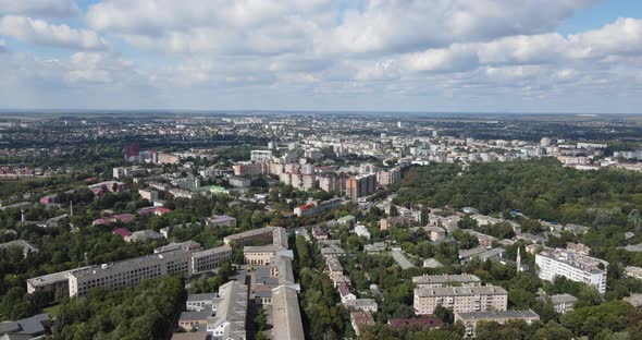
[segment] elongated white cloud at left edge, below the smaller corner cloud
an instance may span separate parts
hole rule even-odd
[[[51,47],[96,50],[107,48],[107,42],[94,31],[75,29],[65,24],[54,25],[26,16],[8,15],[1,17],[0,35],[10,36],[24,42]]]

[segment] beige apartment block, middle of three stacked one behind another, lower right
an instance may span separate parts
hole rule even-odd
[[[506,311],[508,293],[497,286],[415,289],[415,314],[434,314],[440,305],[455,313]]]

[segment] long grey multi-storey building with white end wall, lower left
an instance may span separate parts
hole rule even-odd
[[[70,296],[83,296],[94,287],[136,287],[144,279],[156,279],[169,274],[188,277],[192,275],[190,257],[190,252],[174,250],[74,270],[69,274]]]

